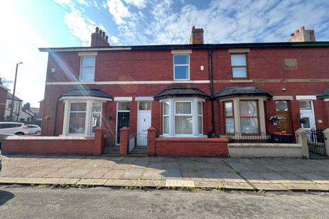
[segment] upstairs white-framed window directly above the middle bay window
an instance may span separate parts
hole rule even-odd
[[[173,55],[173,79],[190,79],[190,55]]]

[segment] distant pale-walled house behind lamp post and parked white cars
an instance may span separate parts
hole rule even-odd
[[[20,121],[20,122],[29,122],[32,121],[34,118],[34,114],[32,112],[25,112],[22,109],[22,103],[23,100],[19,99],[19,97],[15,96],[14,98],[14,107],[12,111],[14,121]],[[5,101],[5,115],[4,120],[10,120],[10,109],[12,107],[12,94],[10,92],[7,93],[7,98]]]

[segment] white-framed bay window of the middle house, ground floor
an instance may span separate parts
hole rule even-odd
[[[171,98],[162,101],[162,136],[206,137],[200,98]]]

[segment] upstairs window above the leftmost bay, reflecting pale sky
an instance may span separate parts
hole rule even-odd
[[[81,56],[80,60],[80,81],[95,81],[95,56]]]

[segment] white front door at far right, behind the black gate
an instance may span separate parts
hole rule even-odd
[[[300,101],[300,118],[304,118],[306,121],[306,123],[302,124],[303,129],[315,129],[315,116],[312,101]]]

